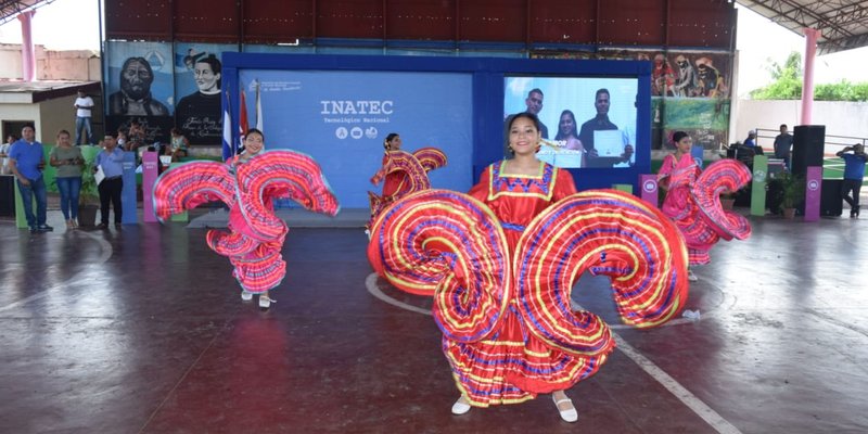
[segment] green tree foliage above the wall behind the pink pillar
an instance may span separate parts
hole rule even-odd
[[[754,100],[801,100],[802,99],[802,54],[793,51],[781,65],[770,62],[767,66],[770,85],[751,91]],[[835,84],[814,86],[815,101],[868,101],[868,81],[852,84],[842,80]]]

